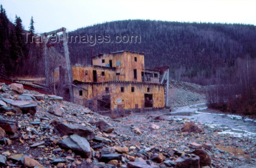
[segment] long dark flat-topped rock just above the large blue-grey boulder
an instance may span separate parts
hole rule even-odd
[[[61,136],[76,134],[81,137],[86,138],[88,141],[92,140],[95,137],[95,134],[92,129],[87,128],[81,124],[67,124],[59,123],[55,126],[54,130],[57,130]]]

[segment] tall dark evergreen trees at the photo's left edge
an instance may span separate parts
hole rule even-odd
[[[24,35],[27,33],[31,33],[32,35]],[[30,38],[32,38],[33,34],[33,17],[31,17],[30,21],[30,30],[26,31],[22,26],[22,19],[16,15],[14,23],[11,23],[7,18],[5,9],[0,5],[1,75],[19,77],[24,75],[38,75],[44,72],[41,45],[29,43],[32,40]]]

